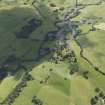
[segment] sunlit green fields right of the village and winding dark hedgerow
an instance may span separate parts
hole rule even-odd
[[[87,27],[82,26],[80,29],[83,30],[83,35],[80,35],[77,37],[78,42],[81,44],[81,46],[84,49],[84,56],[86,56],[95,66],[98,66],[102,71],[104,71],[105,63],[105,54],[104,54],[104,22],[105,15],[102,11],[105,10],[104,7],[105,4],[101,6],[91,6],[85,8],[83,11],[81,11],[81,15],[79,17],[76,17],[77,20],[80,20],[80,18],[85,17],[101,17],[102,19],[98,21],[99,25],[96,26],[96,31],[87,33],[91,28],[87,28],[90,25],[87,25]],[[97,11],[97,12],[95,12]],[[98,15],[100,14],[100,15]],[[94,26],[94,27],[95,27]],[[87,33],[87,34],[85,34]]]

